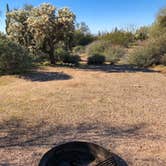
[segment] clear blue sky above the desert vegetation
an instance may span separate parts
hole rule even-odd
[[[24,4],[38,6],[48,2],[58,8],[69,7],[77,22],[85,22],[92,33],[111,31],[115,27],[132,28],[151,25],[166,0],[0,0],[0,30],[5,31],[5,8],[21,8]]]

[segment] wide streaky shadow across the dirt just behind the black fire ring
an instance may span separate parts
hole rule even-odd
[[[47,146],[74,140],[109,144],[112,138],[139,137],[145,124],[112,127],[106,123],[81,123],[78,125],[25,124],[20,119],[0,123],[0,148]]]

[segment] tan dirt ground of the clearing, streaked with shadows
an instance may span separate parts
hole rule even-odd
[[[50,148],[74,140],[131,166],[165,166],[166,75],[103,66],[0,77],[0,166],[37,166]]]

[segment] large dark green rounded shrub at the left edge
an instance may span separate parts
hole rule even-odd
[[[19,44],[0,38],[0,71],[21,73],[31,67],[28,51]]]

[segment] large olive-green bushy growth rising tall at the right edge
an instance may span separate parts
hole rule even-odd
[[[144,42],[129,55],[128,62],[141,67],[166,64],[166,8],[152,26],[143,30]]]

